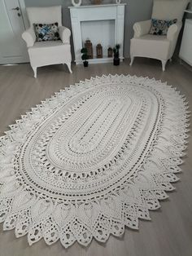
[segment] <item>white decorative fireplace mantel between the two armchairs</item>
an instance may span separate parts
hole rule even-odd
[[[124,59],[123,51],[124,51],[124,6],[125,3],[120,4],[101,4],[101,5],[87,5],[87,6],[80,6],[80,7],[68,7],[70,9],[71,21],[72,21],[72,38],[74,44],[74,51],[75,51],[75,62],[76,64],[82,64],[81,60],[81,48],[84,46],[83,38],[82,38],[82,24],[86,24],[86,22],[94,22],[94,21],[101,21],[103,23],[112,22],[114,23],[111,26],[110,31],[107,33],[103,32],[98,34],[98,42],[102,43],[102,40],[108,33],[112,33],[114,37],[114,45],[120,44],[120,60]],[[99,29],[99,28],[98,28]],[[107,27],[107,30],[109,28]],[[86,30],[87,31],[87,30]],[[95,33],[97,33],[97,29],[94,30],[89,26],[89,32],[87,34],[87,38],[92,41],[91,34],[96,37]],[[105,42],[107,41],[107,38]],[[95,47],[95,46],[94,46]],[[107,58],[106,52],[103,54],[102,59],[97,59],[94,56],[94,59],[89,60],[89,63],[106,63],[111,62],[112,58]]]

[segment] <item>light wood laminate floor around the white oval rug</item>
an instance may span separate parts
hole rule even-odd
[[[42,99],[85,78],[102,74],[131,74],[155,77],[177,86],[192,106],[192,72],[177,62],[168,63],[162,72],[157,60],[136,59],[133,67],[125,60],[119,67],[112,64],[92,64],[89,68],[72,66],[73,73],[63,65],[38,68],[37,79],[29,64],[0,66],[0,135],[7,126],[20,118]],[[77,243],[64,249],[59,242],[48,246],[41,240],[31,247],[27,236],[15,238],[14,231],[2,232],[0,225],[0,256],[192,256],[192,137],[189,139],[181,181],[161,202],[161,208],[151,212],[151,221],[140,221],[139,230],[126,229],[124,236],[110,236],[105,244],[97,241],[84,248]]]

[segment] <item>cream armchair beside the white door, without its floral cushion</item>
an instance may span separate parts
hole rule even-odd
[[[71,62],[71,31],[62,26],[62,12],[59,7],[28,7],[28,20],[30,28],[23,34],[22,38],[27,43],[30,64],[33,68],[34,77],[37,77],[37,68],[51,64],[67,64],[69,72],[72,73]],[[59,24],[59,37],[61,40],[49,42],[36,42],[33,24],[55,23]]]

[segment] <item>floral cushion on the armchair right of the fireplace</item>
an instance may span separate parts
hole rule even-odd
[[[174,20],[151,20],[151,30],[150,34],[152,35],[167,35],[168,28],[172,25],[177,23],[177,19]]]

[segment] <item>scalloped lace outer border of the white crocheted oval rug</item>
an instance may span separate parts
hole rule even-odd
[[[96,85],[105,79],[111,82],[123,79],[136,86],[148,83],[155,86],[164,99],[166,108],[161,130],[156,135],[159,140],[151,150],[150,161],[143,166],[147,172],[139,173],[132,183],[124,183],[124,188],[107,198],[93,198],[85,203],[61,202],[28,191],[12,170],[21,133],[30,130],[47,109],[55,108],[66,95],[85,90],[86,85]],[[178,180],[175,174],[181,171],[179,166],[183,162],[181,157],[185,155],[183,151],[188,138],[190,112],[187,109],[185,97],[167,83],[129,75],[90,78],[42,101],[41,105],[16,120],[10,126],[11,130],[0,138],[0,222],[4,222],[3,229],[15,228],[17,237],[28,234],[29,245],[43,237],[47,245],[60,240],[65,248],[75,241],[89,245],[93,237],[105,242],[110,234],[121,236],[124,227],[137,229],[138,219],[150,220],[149,210],[160,207],[159,201],[168,198],[166,192],[172,191],[171,183]]]

